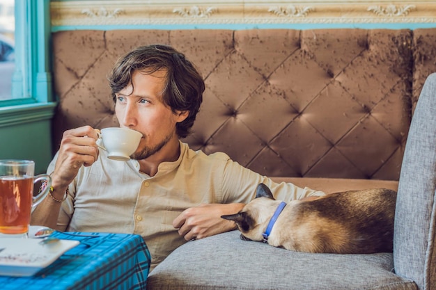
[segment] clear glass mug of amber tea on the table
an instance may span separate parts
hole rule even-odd
[[[35,162],[30,160],[0,160],[0,238],[27,237],[31,210],[52,185],[49,175],[34,177],[34,171]],[[33,197],[33,184],[40,181],[47,186]]]

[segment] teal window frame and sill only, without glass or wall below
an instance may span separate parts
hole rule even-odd
[[[49,58],[49,0],[15,0],[15,71],[10,99],[0,101],[0,124],[11,112],[29,113],[56,105]],[[4,117],[4,118],[2,118]],[[8,120],[5,118],[8,117]]]

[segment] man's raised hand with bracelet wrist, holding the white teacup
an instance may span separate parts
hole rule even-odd
[[[67,186],[79,172],[81,166],[91,166],[98,159],[98,146],[95,141],[98,133],[90,126],[65,131],[54,166],[53,179]]]

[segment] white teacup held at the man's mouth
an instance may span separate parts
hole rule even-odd
[[[132,129],[111,127],[102,129],[100,137],[109,159],[128,161],[137,150],[142,134]]]

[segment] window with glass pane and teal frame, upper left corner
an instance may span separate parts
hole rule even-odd
[[[0,36],[7,38],[7,44],[0,47],[1,53],[5,53],[1,58],[6,59],[1,61],[5,73],[0,72],[3,85],[0,113],[5,107],[40,106],[52,101],[49,3],[49,0],[0,0],[0,29],[5,31]]]

